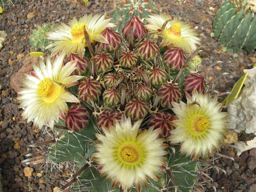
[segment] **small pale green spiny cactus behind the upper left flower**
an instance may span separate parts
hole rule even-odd
[[[43,51],[47,45],[53,43],[52,40],[46,38],[46,33],[51,32],[55,28],[56,24],[44,23],[38,26],[37,29],[33,29],[31,36],[29,37],[30,45],[36,48],[36,51]]]

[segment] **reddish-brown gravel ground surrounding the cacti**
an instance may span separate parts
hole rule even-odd
[[[208,69],[205,76],[212,79],[221,73],[228,72],[229,76],[216,81],[214,87],[220,92],[230,91],[234,83],[243,75],[244,68],[252,68],[252,60],[256,53],[249,55],[239,53],[234,58],[230,52],[223,52],[217,41],[210,37],[212,32],[213,18],[222,1],[185,1],[181,2],[158,1],[163,12],[176,15],[180,19],[190,22],[197,29],[202,45],[207,47],[211,53],[210,57],[204,58],[203,67],[218,60],[219,64]],[[31,60],[28,53],[33,51],[29,45],[28,37],[36,25],[44,22],[67,23],[73,17],[81,17],[84,13],[104,13],[111,8],[111,1],[92,1],[91,6],[86,8],[82,0],[55,1],[39,0],[16,2],[15,6],[8,6],[0,19],[0,30],[7,33],[4,47],[0,51],[0,168],[4,192],[36,191],[52,192],[53,188],[60,186],[58,179],[68,175],[66,170],[51,172],[46,167],[40,172],[40,165],[33,166],[33,174],[30,178],[24,175],[25,164],[24,152],[28,145],[47,140],[42,137],[42,131],[34,132],[31,123],[21,120],[21,109],[15,101],[17,94],[10,87],[10,77],[17,72],[25,63],[24,60]],[[46,52],[47,54],[48,52]],[[222,98],[220,98],[220,101]],[[221,158],[216,164],[226,170],[227,175],[217,174],[211,170],[213,184],[218,192],[256,192],[256,149],[242,153],[240,157],[235,156],[232,148],[223,148],[222,154],[235,158],[235,162]],[[209,187],[209,186],[207,186]],[[206,191],[214,191],[207,188]]]

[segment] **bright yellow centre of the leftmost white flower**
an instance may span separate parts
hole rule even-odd
[[[47,103],[53,102],[60,94],[60,85],[52,82],[49,78],[44,78],[37,85],[37,94],[44,97],[44,101]]]

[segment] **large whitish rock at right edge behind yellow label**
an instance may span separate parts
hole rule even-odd
[[[253,133],[256,131],[256,67],[245,69],[248,76],[244,82],[245,87],[241,95],[233,101],[228,107],[228,128],[236,129],[238,132]],[[256,133],[255,133],[256,135]],[[253,140],[235,143],[236,154],[239,156],[242,152],[255,148],[256,137]]]

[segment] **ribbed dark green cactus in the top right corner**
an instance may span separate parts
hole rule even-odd
[[[244,50],[249,54],[256,48],[256,14],[246,4],[225,1],[214,18],[213,37],[233,53]]]

